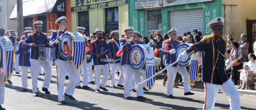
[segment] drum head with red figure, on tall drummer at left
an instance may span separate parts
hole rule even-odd
[[[70,59],[72,54],[72,36],[69,33],[64,33],[61,35],[62,41],[59,43],[60,55],[64,59]]]

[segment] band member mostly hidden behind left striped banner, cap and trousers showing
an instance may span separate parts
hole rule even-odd
[[[85,27],[76,27],[77,32],[79,32],[80,34],[84,35],[84,30]],[[85,42],[86,42],[86,37],[84,36]],[[84,63],[81,64],[80,69],[83,70],[82,72],[82,77],[83,77],[83,89],[90,89],[90,87],[88,87],[88,83],[89,83],[89,76],[88,76],[88,67],[87,67],[87,62],[85,61]],[[76,76],[76,88],[78,89],[82,89],[82,87],[80,86],[80,75],[78,74]]]

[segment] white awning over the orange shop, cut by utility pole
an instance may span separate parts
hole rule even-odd
[[[52,12],[56,1],[57,0],[23,0],[23,17],[45,16],[47,13]],[[17,20],[17,4],[9,18],[11,20]]]

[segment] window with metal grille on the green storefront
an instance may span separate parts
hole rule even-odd
[[[162,11],[160,9],[149,9],[147,10],[147,34],[150,38],[152,31],[159,31],[162,34]]]

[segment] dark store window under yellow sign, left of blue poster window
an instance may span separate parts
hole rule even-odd
[[[78,12],[78,24],[81,27],[85,27],[85,32],[89,31],[89,11],[83,11],[83,12]],[[93,32],[89,32],[89,34],[92,34]],[[87,35],[89,36],[89,35]]]

